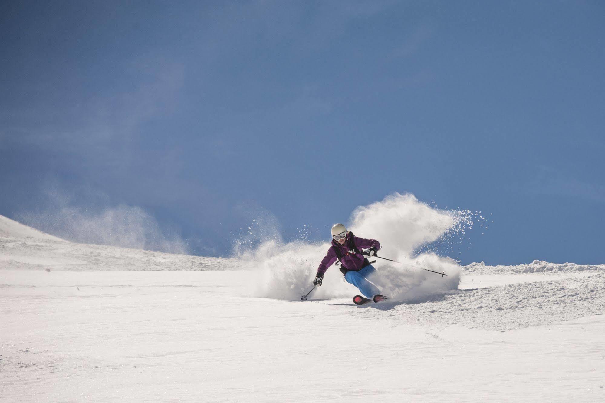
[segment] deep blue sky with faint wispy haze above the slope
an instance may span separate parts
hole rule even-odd
[[[493,214],[463,263],[605,262],[603,2],[13,1],[0,38],[2,215],[139,206],[224,256],[410,192]]]

